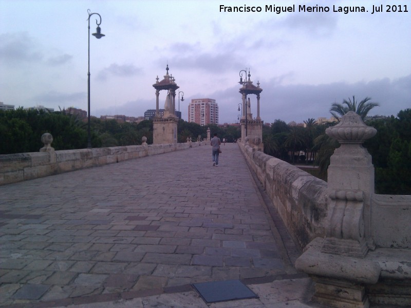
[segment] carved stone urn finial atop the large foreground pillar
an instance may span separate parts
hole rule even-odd
[[[328,127],[325,133],[329,137],[337,139],[340,144],[361,144],[365,140],[374,137],[377,129],[367,126],[359,114],[354,111],[348,111],[343,115],[339,124]]]

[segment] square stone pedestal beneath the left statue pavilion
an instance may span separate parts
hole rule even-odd
[[[153,119],[153,144],[177,143],[177,117]]]

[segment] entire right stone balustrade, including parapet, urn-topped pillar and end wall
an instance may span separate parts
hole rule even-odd
[[[376,129],[350,111],[326,133],[335,149],[327,183],[239,144],[294,240],[295,267],[315,283],[312,302],[327,307],[411,306],[411,196],[377,195],[362,146]]]

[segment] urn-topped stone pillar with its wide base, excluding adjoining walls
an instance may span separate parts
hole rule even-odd
[[[368,258],[374,249],[371,232],[371,195],[374,168],[362,143],[377,130],[349,111],[326,129],[340,148],[328,168],[328,226],[326,238],[311,242],[295,262],[315,282],[313,302],[339,308],[367,308],[366,285],[376,284],[381,266]]]

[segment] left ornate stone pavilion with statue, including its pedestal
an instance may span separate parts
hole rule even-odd
[[[153,87],[156,89],[156,115],[153,118],[153,144],[177,143],[177,123],[176,117],[176,90],[179,88],[173,75],[169,75],[169,65],[165,68],[164,79],[159,81],[157,76]],[[161,90],[167,90],[164,103],[164,115],[159,113],[159,95]]]

